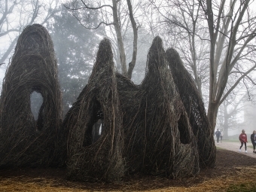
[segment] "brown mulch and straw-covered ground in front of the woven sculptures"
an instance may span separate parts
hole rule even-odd
[[[67,181],[63,168],[6,169],[0,170],[0,191],[240,191],[233,190],[233,186],[252,183],[249,190],[242,191],[256,191],[255,175],[256,158],[218,149],[215,168],[203,169],[193,178],[130,175],[119,184],[81,183]]]

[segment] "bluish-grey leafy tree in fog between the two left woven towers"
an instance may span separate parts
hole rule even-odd
[[[96,13],[91,22],[97,23]],[[96,48],[101,38],[99,31],[85,29],[63,6],[47,23],[47,29],[53,39],[58,60],[59,84],[63,96],[64,114],[75,102],[81,90],[87,84],[96,56]]]

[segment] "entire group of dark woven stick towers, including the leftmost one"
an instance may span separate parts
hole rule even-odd
[[[17,41],[0,100],[0,167],[60,166],[75,181],[120,181],[143,172],[181,178],[215,166],[203,101],[178,53],[156,37],[145,79],[114,72],[111,43],[99,44],[93,72],[62,122],[53,43],[40,25]],[[30,95],[44,101],[35,120]],[[101,130],[96,129],[100,127]]]

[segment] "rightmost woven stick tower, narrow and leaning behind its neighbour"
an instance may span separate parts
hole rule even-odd
[[[203,100],[197,90],[194,80],[191,78],[178,52],[173,48],[166,50],[169,69],[177,87],[181,100],[189,115],[190,125],[194,136],[197,137],[197,147],[200,155],[200,167],[215,166],[216,148],[213,133]]]

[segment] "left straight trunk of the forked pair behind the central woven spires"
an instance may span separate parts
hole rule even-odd
[[[121,29],[120,29],[120,23],[118,20],[118,15],[117,15],[117,1],[112,0],[113,2],[113,20],[114,20],[114,30],[117,33],[117,44],[118,44],[118,49],[120,53],[120,65],[122,69],[122,75],[127,77],[127,68],[126,68],[126,56],[124,52],[124,47],[123,47],[123,38],[121,34]]]

